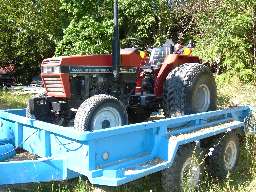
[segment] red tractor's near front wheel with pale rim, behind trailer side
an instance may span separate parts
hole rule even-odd
[[[78,131],[94,131],[126,125],[128,116],[124,105],[110,95],[95,95],[78,108],[74,127]]]

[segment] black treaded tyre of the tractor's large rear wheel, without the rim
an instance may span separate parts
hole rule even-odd
[[[216,85],[210,69],[199,63],[185,63],[173,69],[166,77],[163,93],[165,116],[193,113],[187,98],[194,82],[202,74],[209,75],[214,85],[209,110],[216,109]]]

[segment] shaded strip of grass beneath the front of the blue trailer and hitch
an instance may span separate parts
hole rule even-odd
[[[1,190],[0,190],[1,191]],[[160,173],[119,187],[93,186],[86,177],[63,182],[34,183],[6,187],[6,192],[161,192]],[[2,192],[2,191],[1,191]],[[5,191],[4,191],[5,192]]]

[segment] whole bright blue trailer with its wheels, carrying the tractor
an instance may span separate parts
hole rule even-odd
[[[201,163],[192,157],[209,158],[217,176],[232,171],[240,139],[255,132],[255,125],[245,126],[252,113],[253,108],[242,106],[79,132],[27,118],[23,109],[2,110],[0,185],[84,175],[92,184],[119,186],[161,171],[165,190],[180,189],[185,175],[196,187]],[[19,159],[23,150],[33,157]]]

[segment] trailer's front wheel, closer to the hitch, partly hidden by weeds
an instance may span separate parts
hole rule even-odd
[[[172,166],[162,171],[162,187],[166,192],[193,191],[199,187],[202,157],[195,145],[185,145],[176,153]]]

